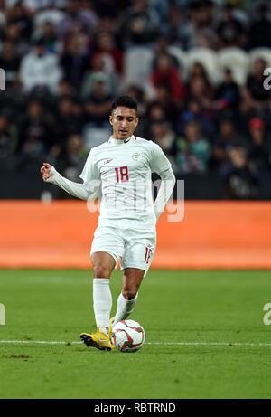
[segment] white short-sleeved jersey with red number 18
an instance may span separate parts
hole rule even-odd
[[[93,147],[80,178],[92,190],[101,184],[98,225],[154,230],[152,173],[170,167],[161,147],[142,137],[110,137]]]

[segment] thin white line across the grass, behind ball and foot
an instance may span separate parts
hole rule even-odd
[[[0,340],[1,344],[22,345],[81,345],[82,342],[64,342],[47,340]],[[254,342],[145,342],[145,345],[175,345],[175,346],[271,346],[271,343]]]

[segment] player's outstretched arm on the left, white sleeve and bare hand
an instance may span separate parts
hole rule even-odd
[[[62,176],[53,166],[47,162],[43,163],[41,167],[42,179],[46,183],[58,185],[64,191],[73,195],[74,197],[80,198],[81,200],[94,199],[97,196],[97,190],[93,194],[89,193],[85,184],[75,183]]]

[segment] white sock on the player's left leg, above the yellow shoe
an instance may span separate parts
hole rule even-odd
[[[93,280],[93,308],[97,328],[108,335],[112,295],[107,278]]]

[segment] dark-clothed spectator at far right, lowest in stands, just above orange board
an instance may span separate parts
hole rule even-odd
[[[224,198],[230,200],[252,200],[257,197],[259,181],[253,166],[248,162],[244,147],[233,147],[229,151],[229,165],[225,167]]]

